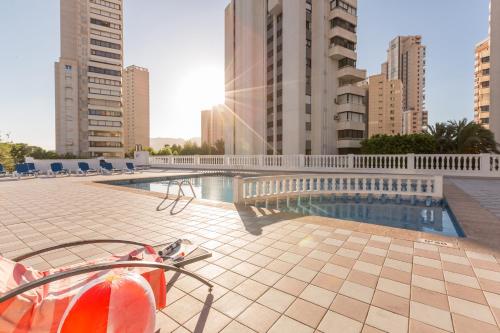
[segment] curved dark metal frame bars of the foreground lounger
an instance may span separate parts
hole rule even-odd
[[[55,246],[51,246],[45,249],[33,251],[30,253],[23,254],[21,256],[18,256],[14,258],[12,261],[14,262],[19,262],[21,260],[33,257],[35,255],[38,255],[40,253],[60,249],[60,248],[65,248],[65,247],[72,247],[72,246],[78,246],[78,245],[86,245],[86,244],[99,244],[99,243],[120,243],[120,244],[130,244],[130,245],[138,245],[138,246],[150,246],[149,244],[144,244],[144,243],[139,243],[139,242],[134,242],[134,241],[127,241],[127,240],[113,240],[113,239],[95,239],[95,240],[88,240],[88,241],[77,241],[77,242],[71,242],[71,243],[65,243],[65,244],[59,244]],[[157,245],[158,246],[158,245]],[[98,271],[103,271],[103,270],[110,270],[114,268],[127,268],[127,267],[143,267],[143,268],[160,268],[165,271],[171,270],[174,272],[178,272],[181,274],[185,274],[189,277],[192,277],[193,279],[196,279],[200,281],[201,283],[205,284],[208,287],[209,292],[212,291],[213,284],[211,284],[208,280],[204,279],[203,277],[190,272],[188,270],[183,269],[183,266],[189,265],[193,262],[203,260],[210,258],[212,256],[211,253],[206,253],[203,255],[199,255],[196,257],[193,257],[191,259],[186,259],[183,261],[180,261],[175,264],[163,264],[163,263],[158,263],[158,262],[150,262],[150,261],[115,261],[111,263],[99,263],[99,264],[94,264],[90,266],[79,266],[75,267],[72,269],[68,269],[66,271],[54,273],[48,276],[45,276],[41,279],[34,280],[25,284],[22,284],[12,290],[9,290],[2,296],[0,296],[0,303],[7,301],[13,297],[16,297],[28,290],[43,286],[47,283],[51,283],[54,281],[62,280],[71,276],[75,275],[81,275],[81,274],[86,274],[86,273],[91,273],[91,272],[98,272]]]

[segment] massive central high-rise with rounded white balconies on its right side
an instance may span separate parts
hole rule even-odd
[[[359,150],[357,0],[232,0],[225,25],[227,153]]]

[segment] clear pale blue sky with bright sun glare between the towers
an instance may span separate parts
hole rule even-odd
[[[0,135],[46,149],[55,145],[59,1],[0,1]],[[150,71],[151,137],[200,136],[200,110],[223,103],[229,0],[124,2],[124,65]],[[488,0],[358,0],[358,15],[359,68],[379,73],[392,38],[420,34],[430,122],[472,118]]]

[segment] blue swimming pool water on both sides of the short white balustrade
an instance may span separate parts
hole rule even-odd
[[[221,175],[201,175],[196,177],[165,177],[155,179],[135,179],[108,182],[128,188],[166,193],[168,183],[189,180],[197,198],[233,202],[233,177]],[[170,193],[177,194],[178,186],[172,185]],[[186,195],[190,195],[189,185],[183,185]],[[264,202],[257,207],[265,207]],[[402,200],[359,196],[321,196],[290,198],[269,201],[267,208],[279,209],[302,215],[315,215],[350,220],[388,227],[437,233],[446,236],[463,237],[460,226],[445,201]]]

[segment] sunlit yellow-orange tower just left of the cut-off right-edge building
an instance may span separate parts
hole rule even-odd
[[[474,62],[474,121],[490,127],[490,40],[476,45]]]

